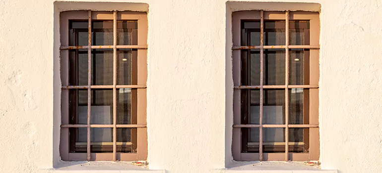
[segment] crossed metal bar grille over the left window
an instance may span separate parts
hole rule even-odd
[[[131,49],[147,49],[147,45],[117,45],[117,11],[113,11],[113,45],[92,45],[92,11],[88,10],[88,45],[79,46],[61,46],[61,50],[69,49],[87,49],[88,58],[88,85],[87,86],[63,86],[63,90],[67,89],[87,89],[87,124],[63,124],[61,128],[87,128],[87,160],[93,160],[91,158],[90,150],[90,128],[113,128],[113,161],[117,160],[117,128],[146,128],[146,124],[129,124],[129,125],[117,125],[117,88],[146,88],[146,85],[117,85],[117,48],[131,48]],[[144,33],[144,32],[143,32]],[[91,67],[91,54],[92,49],[107,49],[113,48],[113,85],[91,85],[92,79],[92,67]],[[64,83],[64,82],[63,82]],[[91,89],[94,88],[112,88],[113,89],[113,124],[90,124],[91,119]],[[145,115],[144,115],[145,116]],[[138,122],[139,123],[139,122]],[[121,142],[119,142],[121,143]]]

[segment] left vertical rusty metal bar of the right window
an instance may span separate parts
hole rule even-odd
[[[262,161],[262,109],[263,109],[263,81],[264,81],[264,11],[260,11],[260,114],[259,114],[259,145],[258,153],[259,160]]]

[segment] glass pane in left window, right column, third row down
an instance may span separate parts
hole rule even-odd
[[[117,89],[117,124],[136,124],[137,89]]]

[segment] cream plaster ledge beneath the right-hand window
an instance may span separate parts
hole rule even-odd
[[[337,173],[337,170],[321,170],[319,166],[306,166],[304,162],[233,162],[227,169],[214,173]]]

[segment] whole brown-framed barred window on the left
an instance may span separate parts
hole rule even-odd
[[[64,161],[147,158],[147,14],[60,16]]]

